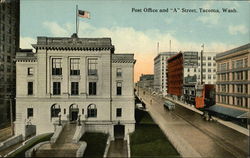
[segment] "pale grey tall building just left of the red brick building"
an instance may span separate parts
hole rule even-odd
[[[161,52],[154,58],[154,89],[161,92],[163,95],[167,94],[167,60],[176,55],[177,52]]]

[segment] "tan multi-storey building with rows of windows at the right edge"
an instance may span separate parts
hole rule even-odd
[[[216,104],[250,108],[250,43],[216,55]]]

